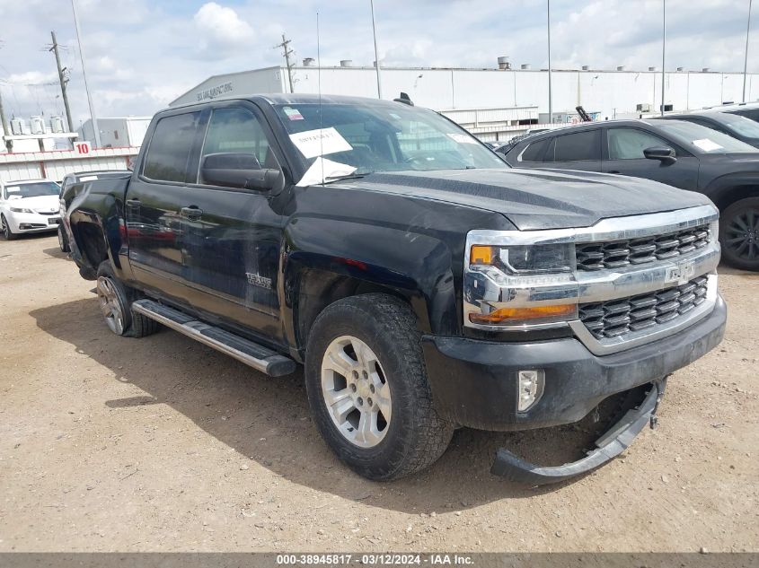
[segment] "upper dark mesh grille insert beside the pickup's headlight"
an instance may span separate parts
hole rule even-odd
[[[709,225],[666,235],[577,245],[578,270],[602,270],[643,265],[679,257],[709,244]]]

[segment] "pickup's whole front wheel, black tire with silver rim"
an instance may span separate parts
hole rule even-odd
[[[432,404],[416,320],[392,296],[327,307],[309,333],[305,386],[314,422],[359,475],[390,480],[434,463],[454,427]]]

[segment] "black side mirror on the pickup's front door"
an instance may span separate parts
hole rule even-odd
[[[199,182],[222,188],[267,191],[283,188],[285,177],[280,170],[261,168],[251,153],[225,152],[203,158]]]

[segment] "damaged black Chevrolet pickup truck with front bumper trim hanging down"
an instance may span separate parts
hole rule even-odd
[[[578,461],[502,449],[492,471],[540,485],[596,468],[724,332],[707,197],[513,170],[402,101],[167,109],[135,163],[61,197],[111,331],[163,324],[271,376],[304,364],[324,440],[372,479],[426,468],[459,426],[570,424],[634,393]]]

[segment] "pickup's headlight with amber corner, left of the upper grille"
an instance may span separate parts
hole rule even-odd
[[[496,247],[472,245],[471,267],[498,267],[509,275],[538,275],[574,270],[575,247],[572,244],[518,245]]]

